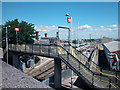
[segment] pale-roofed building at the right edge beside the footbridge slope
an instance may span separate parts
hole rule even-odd
[[[106,58],[112,70],[120,70],[120,41],[103,43]]]

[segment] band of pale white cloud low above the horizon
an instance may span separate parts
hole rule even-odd
[[[111,25],[109,25],[111,26]],[[68,26],[65,26],[68,27]],[[56,37],[56,32],[58,31],[58,26],[55,25],[40,25],[39,27],[35,26],[36,31],[40,31],[40,36],[44,37],[44,33],[48,33],[49,37]],[[80,38],[89,38],[89,33],[91,33],[93,38],[98,38],[102,36],[109,36],[109,37],[116,37],[115,34],[118,32],[118,27],[115,25],[108,27],[108,26],[98,26],[94,28],[93,26],[90,25],[82,25],[79,27],[79,36]],[[67,29],[59,29],[60,33],[60,38],[61,39],[67,39],[68,36],[68,30]],[[76,38],[76,33],[77,33],[77,27],[72,27],[72,38]],[[82,35],[82,36],[81,36]]]

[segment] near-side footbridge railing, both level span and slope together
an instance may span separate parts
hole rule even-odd
[[[85,56],[76,57],[75,55],[69,53],[63,47],[52,44],[52,45],[15,45],[10,44],[9,50],[17,51],[17,52],[24,52],[24,53],[31,53],[31,54],[38,54],[38,55],[47,55],[47,56],[54,56],[60,57],[64,62],[70,65],[71,69],[76,73],[80,73],[85,80],[91,83],[92,86],[99,87],[99,88],[119,88],[118,84],[115,83],[111,78],[105,75],[96,75],[92,70],[90,70],[81,59],[86,60]],[[78,54],[78,52],[77,52]],[[80,61],[81,60],[81,61]],[[90,64],[91,65],[91,64]]]

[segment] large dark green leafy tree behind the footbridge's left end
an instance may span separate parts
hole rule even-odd
[[[33,44],[34,39],[38,38],[36,35],[34,24],[27,23],[26,21],[19,22],[18,19],[8,21],[3,25],[2,28],[2,41],[3,41],[3,48],[5,47],[5,38],[6,38],[6,30],[4,27],[10,25],[11,27],[8,28],[8,43],[9,44],[16,44],[16,31],[14,28],[19,28],[17,32],[18,43],[19,44]]]

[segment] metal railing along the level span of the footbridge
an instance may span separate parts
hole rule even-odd
[[[57,45],[55,44],[9,44],[9,50],[23,52],[23,53],[30,53],[30,54],[41,54],[41,55],[48,55],[48,56],[57,56]]]

